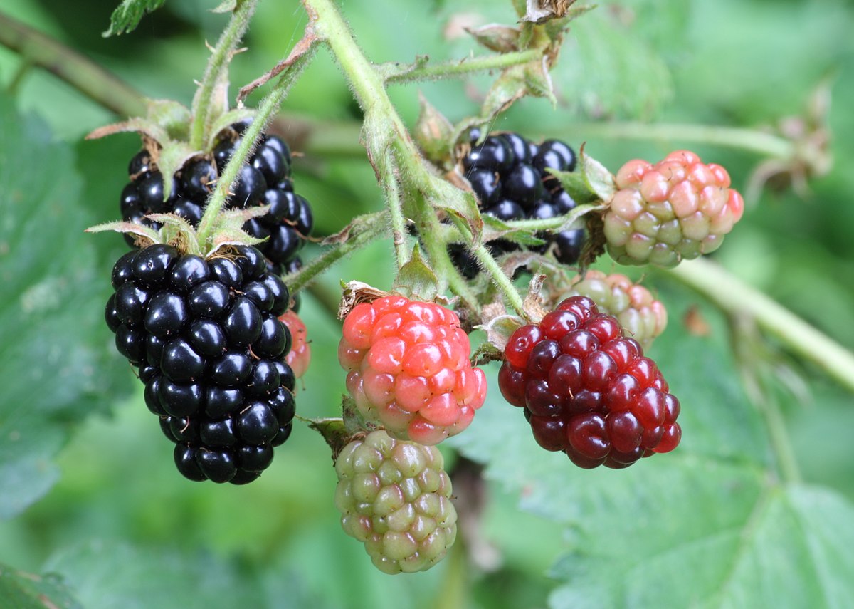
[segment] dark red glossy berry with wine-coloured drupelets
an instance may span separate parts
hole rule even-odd
[[[637,341],[585,296],[518,328],[504,351],[502,395],[535,440],[583,468],[623,468],[679,444],[679,400]]]

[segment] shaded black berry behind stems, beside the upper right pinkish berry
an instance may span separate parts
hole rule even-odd
[[[537,145],[518,133],[497,133],[477,144],[480,136],[479,130],[471,131],[471,151],[462,163],[465,179],[471,183],[484,214],[504,221],[546,220],[576,207],[575,200],[546,171],[576,169],[576,153],[569,145],[558,139]],[[553,246],[559,263],[578,262],[584,241],[582,228],[540,236],[547,239],[547,244],[530,249],[545,252]],[[520,248],[506,239],[495,239],[487,245],[494,255]],[[450,252],[466,277],[477,275],[477,263],[463,245],[452,245]]]

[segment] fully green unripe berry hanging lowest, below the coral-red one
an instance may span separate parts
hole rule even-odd
[[[335,464],[344,531],[384,573],[426,571],[457,536],[442,453],[380,429],[352,440]]]

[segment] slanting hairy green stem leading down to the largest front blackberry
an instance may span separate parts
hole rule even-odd
[[[202,221],[199,222],[198,240],[203,248],[208,248],[208,239],[211,237],[213,229],[216,227],[216,220],[219,216],[219,211],[225,204],[225,199],[229,197],[231,185],[237,179],[237,174],[240,168],[246,163],[249,158],[249,153],[254,148],[260,134],[264,131],[267,122],[273,114],[276,113],[278,107],[282,104],[284,98],[288,95],[290,86],[293,85],[296,78],[300,75],[302,68],[305,68],[308,60],[313,52],[313,38],[302,38],[296,44],[295,50],[291,51],[290,64],[285,68],[284,72],[278,77],[276,85],[272,91],[264,98],[258,112],[255,114],[254,121],[249,123],[249,127],[243,132],[243,137],[237,145],[237,149],[231,156],[228,164],[225,165],[222,174],[217,180],[216,188],[213,190],[211,197],[208,199],[208,204],[205,207]]]

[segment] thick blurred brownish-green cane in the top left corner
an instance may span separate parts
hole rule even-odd
[[[3,13],[0,13],[0,44],[19,53],[26,62],[65,80],[117,115],[145,114],[145,102],[132,87],[76,50]]]

